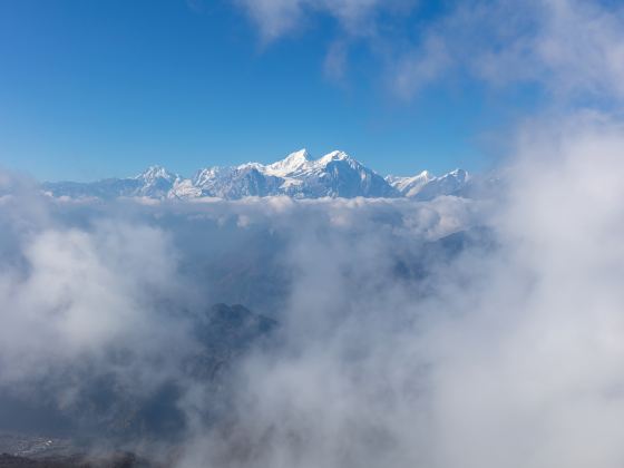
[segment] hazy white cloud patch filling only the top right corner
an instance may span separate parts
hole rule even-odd
[[[598,1],[458,3],[399,60],[397,84],[409,96],[460,72],[494,86],[535,82],[566,101],[622,98],[623,26],[623,9]]]

